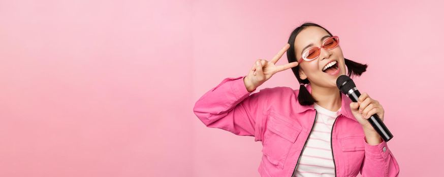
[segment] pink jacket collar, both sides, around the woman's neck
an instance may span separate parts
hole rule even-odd
[[[307,84],[305,87],[307,88],[308,92],[311,94],[311,84]],[[299,92],[299,90],[297,90],[297,91]],[[350,108],[351,102],[352,102],[352,100],[350,100],[350,98],[348,98],[345,94],[341,93],[341,110],[339,111],[339,115],[342,114],[347,118],[357,121],[355,116],[353,116],[352,110]],[[301,113],[301,112],[304,112],[308,109],[314,110],[314,104],[304,106],[304,105],[299,104],[299,100],[297,100],[296,112]]]

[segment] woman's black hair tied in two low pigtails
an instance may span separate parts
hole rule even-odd
[[[290,48],[287,50],[287,59],[289,61],[289,63],[291,62],[296,62],[296,51],[295,51],[295,39],[296,36],[306,27],[308,26],[316,26],[316,27],[320,27],[322,29],[324,29],[325,31],[328,32],[328,34],[330,34],[330,36],[333,36],[330,31],[328,31],[327,29],[325,29],[324,27],[322,27],[321,25],[315,24],[315,23],[304,23],[301,26],[297,27],[295,30],[293,30],[293,32],[290,34],[290,38],[288,40],[288,43],[290,44]],[[366,71],[367,69],[367,64],[361,64],[361,63],[357,63],[354,62],[352,60],[348,60],[346,58],[344,58],[344,62],[345,65],[347,66],[348,69],[348,76],[352,76],[352,75],[358,75],[360,76],[363,72]],[[300,84],[299,86],[299,95],[298,95],[298,101],[299,104],[301,105],[312,105],[316,101],[311,94],[308,92],[307,88],[305,87],[305,85],[303,84],[307,84],[309,83],[308,79],[301,79],[301,77],[299,76],[299,65],[296,67],[292,68],[293,73],[295,74],[296,78],[298,79]]]

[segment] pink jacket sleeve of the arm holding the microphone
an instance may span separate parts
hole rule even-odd
[[[399,174],[399,165],[383,141],[378,145],[369,145],[364,137],[365,157],[361,166],[362,177],[385,176],[394,177]]]

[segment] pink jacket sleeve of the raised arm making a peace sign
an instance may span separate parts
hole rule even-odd
[[[262,109],[267,89],[250,95],[256,89],[248,92],[244,77],[224,79],[196,102],[193,111],[207,127],[262,141]]]

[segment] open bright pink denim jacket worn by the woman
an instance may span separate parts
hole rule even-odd
[[[317,111],[313,105],[300,105],[299,90],[290,87],[251,94],[243,77],[224,79],[196,102],[194,113],[207,127],[262,141],[261,176],[291,177]],[[311,93],[310,84],[306,87]],[[398,176],[399,165],[387,143],[367,144],[362,125],[351,112],[351,100],[341,96],[342,107],[331,134],[336,176],[356,176],[359,172],[363,177]]]

